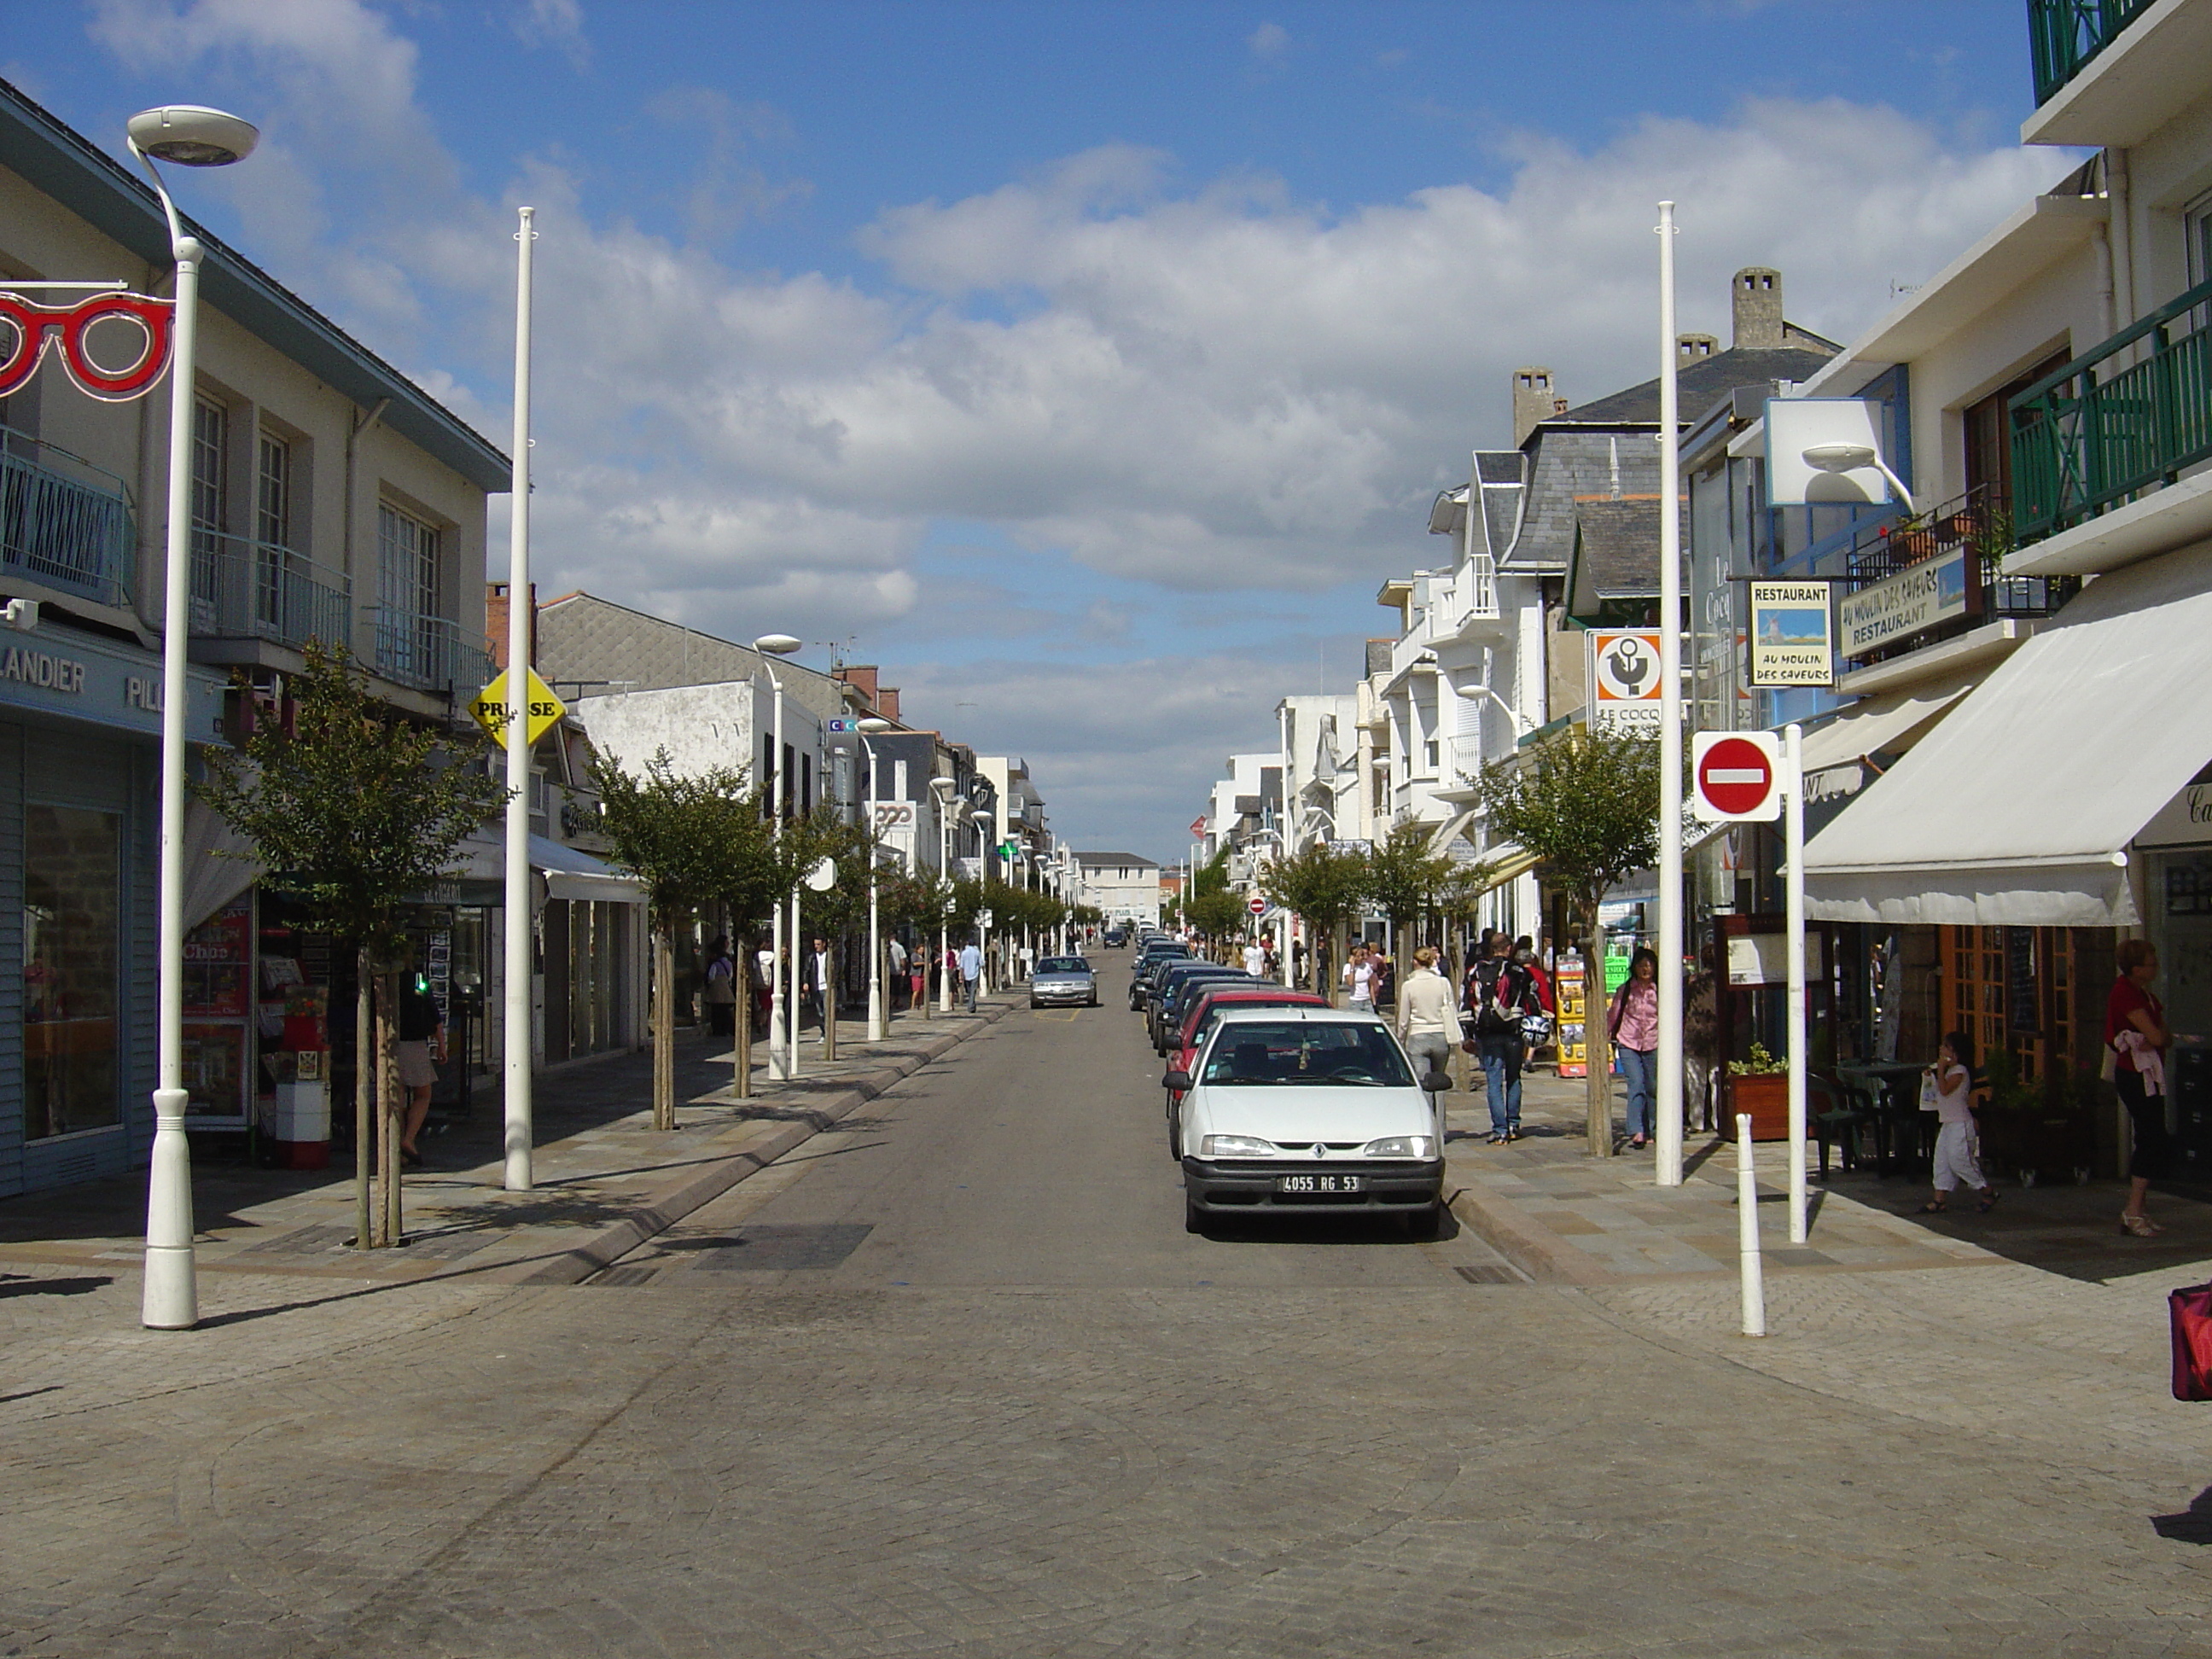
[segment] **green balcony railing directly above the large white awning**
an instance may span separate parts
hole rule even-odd
[[[2212,458],[2212,283],[2011,400],[2022,542],[2073,529]]]

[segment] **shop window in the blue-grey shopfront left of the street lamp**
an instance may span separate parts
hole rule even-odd
[[[24,810],[22,1135],[122,1121],[122,816]]]

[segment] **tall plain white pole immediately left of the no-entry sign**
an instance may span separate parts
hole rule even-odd
[[[1659,1110],[1655,1181],[1681,1186],[1681,418],[1674,204],[1659,204]]]

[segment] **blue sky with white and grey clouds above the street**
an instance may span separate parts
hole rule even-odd
[[[0,0],[106,148],[263,131],[179,197],[502,447],[538,210],[531,564],[1026,757],[1172,860],[1509,374],[1650,378],[1728,274],[1851,338],[2077,157],[2017,144],[2020,0]],[[504,568],[504,498],[493,562]]]

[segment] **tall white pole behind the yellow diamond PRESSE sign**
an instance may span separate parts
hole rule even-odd
[[[507,1190],[531,1190],[531,228],[515,230],[515,440],[507,531],[507,1037],[504,1084]],[[659,987],[668,995],[668,987]]]

